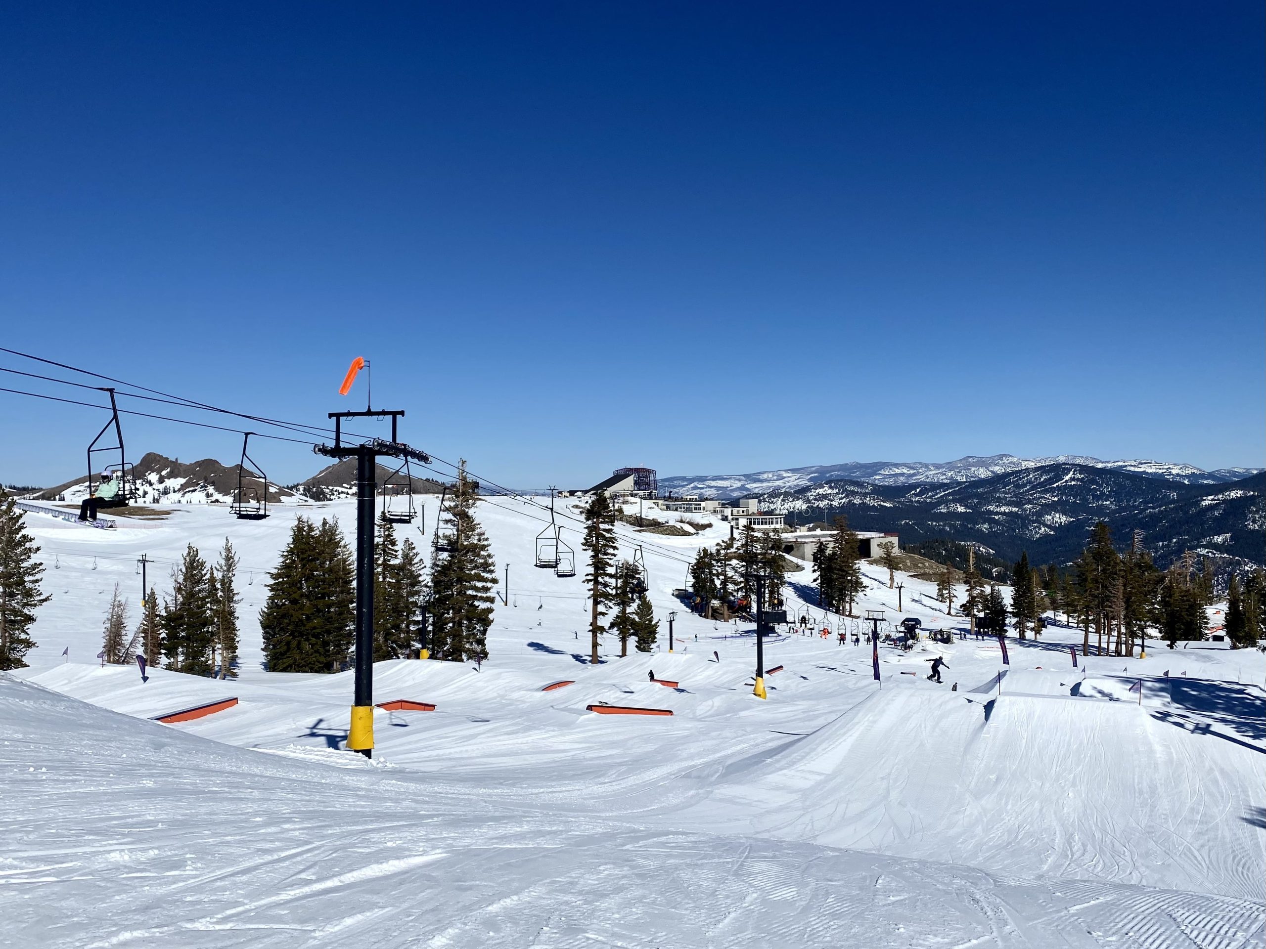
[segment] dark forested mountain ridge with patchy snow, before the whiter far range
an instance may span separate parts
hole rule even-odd
[[[1020,550],[1067,563],[1104,520],[1118,545],[1134,530],[1157,563],[1184,550],[1266,563],[1266,475],[1186,483],[1089,464],[1027,467],[971,481],[876,485],[837,480],[760,495],[762,507],[799,523],[847,514],[858,530],[895,530],[901,543],[932,538],[979,544],[1008,559]]]

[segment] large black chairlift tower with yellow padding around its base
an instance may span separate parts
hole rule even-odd
[[[352,376],[352,373],[348,373]],[[313,452],[327,458],[356,458],[356,686],[352,700],[352,725],[347,748],[366,758],[373,757],[373,510],[377,483],[375,480],[379,456],[406,459],[423,464],[430,456],[396,439],[396,423],[404,410],[329,412],[334,420],[334,444],[315,445]],[[343,443],[343,419],[390,418],[391,440],[370,439],[357,445]]]

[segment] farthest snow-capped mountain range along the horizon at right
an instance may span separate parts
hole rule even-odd
[[[704,497],[743,497],[767,491],[795,491],[825,481],[862,481],[870,485],[941,485],[977,481],[1027,468],[1048,464],[1081,464],[1091,468],[1122,471],[1184,485],[1224,485],[1256,475],[1261,468],[1219,468],[1204,471],[1194,464],[1152,461],[1105,462],[1079,454],[1056,458],[1017,458],[1013,454],[989,457],[967,456],[955,462],[846,462],[844,464],[812,464],[805,468],[757,471],[748,475],[679,475],[660,478],[661,491]]]

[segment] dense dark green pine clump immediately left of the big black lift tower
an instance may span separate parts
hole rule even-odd
[[[338,672],[356,631],[356,568],[338,521],[298,518],[260,612],[270,672]]]

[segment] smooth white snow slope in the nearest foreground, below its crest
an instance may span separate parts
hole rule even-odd
[[[1232,949],[1261,930],[1260,906],[1229,897],[525,811],[6,676],[0,729],[5,945],[1106,946],[1134,933]]]

